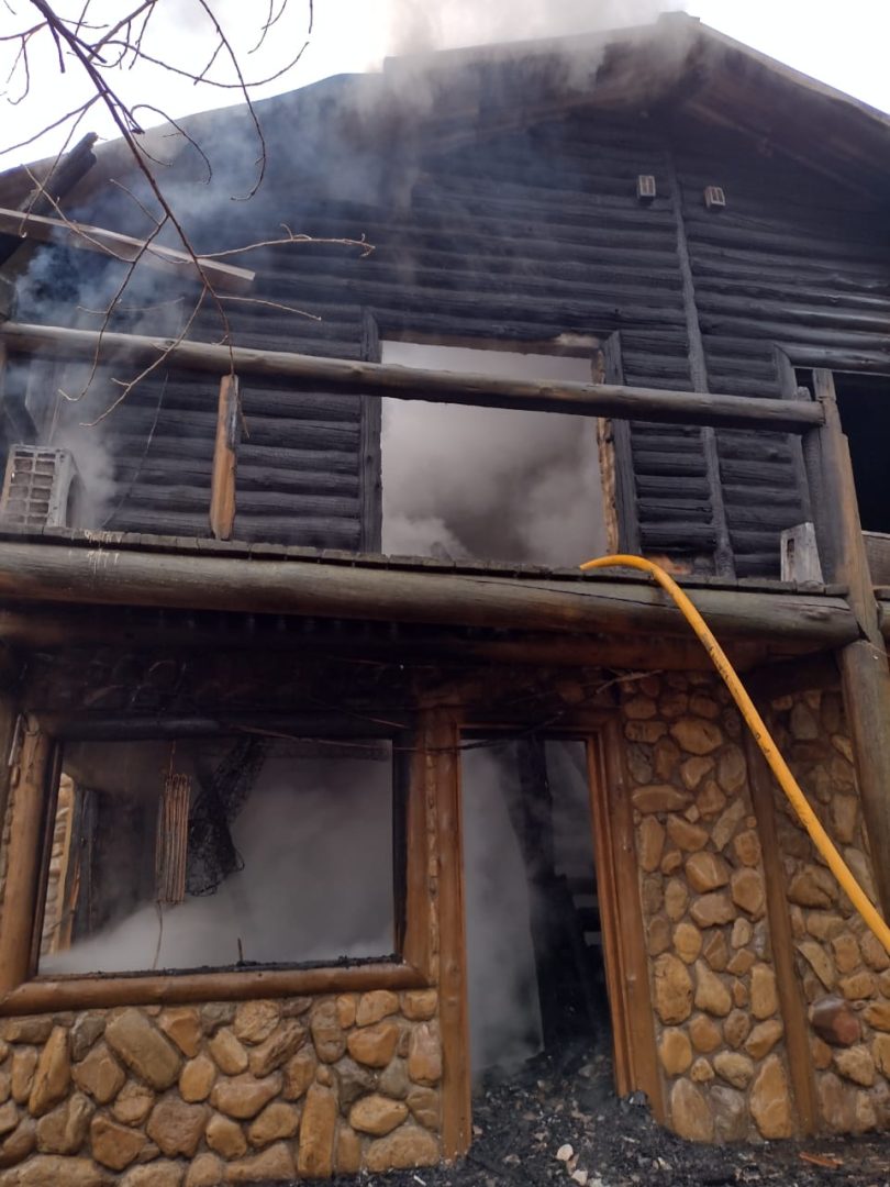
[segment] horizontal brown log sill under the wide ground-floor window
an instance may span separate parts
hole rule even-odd
[[[424,989],[426,984],[425,975],[409,964],[382,960],[325,969],[230,969],[148,977],[40,977],[2,992],[0,1016],[115,1005],[243,1002],[255,997],[350,994],[375,989],[398,991]]]

